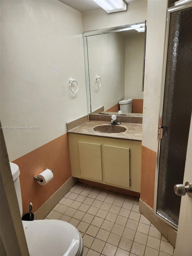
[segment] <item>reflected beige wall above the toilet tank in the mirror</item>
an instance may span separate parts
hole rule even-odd
[[[143,99],[143,53],[145,33],[126,36],[125,98]]]

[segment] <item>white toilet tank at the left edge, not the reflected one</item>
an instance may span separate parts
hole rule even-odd
[[[21,187],[19,182],[19,174],[20,174],[19,166],[14,163],[9,163],[9,164],[10,164],[11,174],[13,177],[13,182],[14,182],[15,191],[17,195],[17,201],[19,203],[19,210],[22,217],[23,209],[22,209]]]

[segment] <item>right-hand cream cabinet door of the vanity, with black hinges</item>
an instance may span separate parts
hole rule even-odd
[[[129,148],[102,146],[104,181],[129,188]]]

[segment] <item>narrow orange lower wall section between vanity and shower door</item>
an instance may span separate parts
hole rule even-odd
[[[156,152],[142,146],[141,199],[151,208],[154,205]]]

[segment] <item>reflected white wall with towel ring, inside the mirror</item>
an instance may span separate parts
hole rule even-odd
[[[125,37],[108,33],[87,37],[91,112],[104,110],[124,99]],[[96,75],[101,77],[98,88]]]

